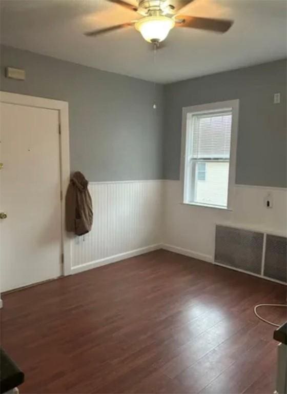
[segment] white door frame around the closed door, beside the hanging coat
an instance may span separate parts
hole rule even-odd
[[[43,97],[3,91],[0,91],[0,102],[58,111],[61,183],[61,196],[59,196],[61,199],[61,251],[64,258],[61,264],[61,275],[69,275],[71,274],[72,249],[71,239],[65,228],[65,195],[70,182],[69,104],[66,101],[44,99]]]

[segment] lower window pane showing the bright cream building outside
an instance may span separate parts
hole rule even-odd
[[[196,163],[198,164],[201,163]],[[193,202],[227,206],[229,162],[206,162],[204,172],[205,182],[199,177],[194,179],[191,187],[194,189]]]

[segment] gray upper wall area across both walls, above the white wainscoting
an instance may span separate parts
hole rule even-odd
[[[24,68],[26,81],[5,78],[6,66]],[[182,107],[240,99],[236,183],[287,187],[286,66],[156,85],[156,111],[153,83],[6,46],[0,81],[4,91],[69,102],[71,170],[90,181],[179,179]]]

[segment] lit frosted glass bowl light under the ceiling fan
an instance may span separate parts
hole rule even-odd
[[[135,23],[135,28],[149,43],[160,43],[167,38],[174,24],[168,16],[146,16]]]

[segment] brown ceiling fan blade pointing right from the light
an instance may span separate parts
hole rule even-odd
[[[176,15],[176,27],[191,27],[225,33],[233,25],[233,21],[227,19],[200,18],[198,16]]]

